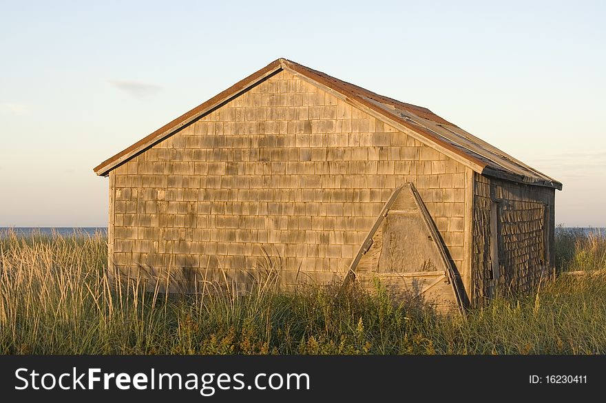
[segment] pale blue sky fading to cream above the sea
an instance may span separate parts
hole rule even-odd
[[[0,227],[105,227],[92,168],[279,57],[423,105],[606,227],[605,1],[0,0]]]

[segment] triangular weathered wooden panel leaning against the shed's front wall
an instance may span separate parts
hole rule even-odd
[[[422,298],[441,311],[461,307],[454,269],[417,189],[395,190],[352,263],[363,287],[375,280],[396,300]]]

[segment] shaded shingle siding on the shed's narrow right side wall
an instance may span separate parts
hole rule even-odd
[[[503,293],[528,291],[538,284],[541,276],[551,272],[550,268],[554,267],[554,196],[555,189],[549,187],[523,185],[474,174],[474,305],[484,304],[496,289]],[[495,202],[499,205],[501,276],[498,282],[492,278],[490,253],[490,209]],[[545,219],[545,216],[548,218]]]

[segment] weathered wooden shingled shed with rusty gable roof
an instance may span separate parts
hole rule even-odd
[[[355,273],[439,309],[554,268],[561,183],[425,107],[273,61],[94,168],[109,272],[170,290]]]

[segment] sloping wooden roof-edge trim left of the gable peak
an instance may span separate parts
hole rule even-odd
[[[181,116],[167,123],[163,127],[160,127],[160,129],[156,130],[155,132],[149,134],[148,136],[145,136],[145,138],[142,138],[140,141],[134,143],[130,147],[123,149],[123,151],[118,152],[118,154],[103,161],[103,163],[94,167],[93,171],[99,176],[107,176],[107,173],[110,170],[114,169],[118,165],[121,165],[122,163],[125,163],[129,160],[129,158],[136,156],[137,154],[145,150],[147,147],[158,143],[158,141],[162,141],[164,138],[173,134],[181,127],[191,123],[192,121],[198,118],[201,118],[204,114],[212,112],[216,109],[216,107],[219,107],[223,103],[233,99],[235,96],[238,96],[242,92],[249,90],[249,88],[253,85],[264,81],[269,76],[276,74],[280,70],[282,70],[280,59],[269,63],[269,65],[265,66],[261,70],[258,70],[247,78],[238,81],[238,83],[232,85],[227,90],[224,90],[216,96],[213,96],[205,103],[194,107],[194,109],[190,110],[189,112],[182,114]]]

